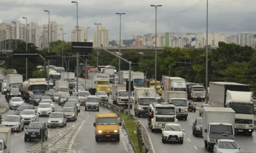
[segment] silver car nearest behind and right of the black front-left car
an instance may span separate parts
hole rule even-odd
[[[48,127],[54,126],[54,127],[64,127],[67,125],[67,117],[62,112],[54,112],[49,116],[48,119]]]

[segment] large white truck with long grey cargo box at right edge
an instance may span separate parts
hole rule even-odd
[[[235,132],[252,135],[254,105],[250,86],[235,82],[209,82],[209,88],[209,105],[232,108],[236,112]]]

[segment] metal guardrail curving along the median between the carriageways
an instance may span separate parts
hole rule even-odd
[[[128,114],[128,111],[125,110],[124,108],[119,107],[114,104],[111,104],[109,102],[100,101],[99,104],[102,107],[108,108],[109,110],[116,112],[117,114],[119,114],[119,116],[120,116],[120,113],[123,113],[126,115]],[[155,151],[154,151],[153,146],[151,146],[150,142],[148,142],[149,136],[146,132],[145,127],[141,124],[140,121],[136,120],[133,115],[131,115],[131,117],[135,120],[135,122],[137,124],[137,138],[138,138],[140,152],[142,152],[142,150],[144,150],[144,153],[154,153]],[[127,130],[126,130],[126,133],[128,134]],[[130,137],[129,137],[129,139],[130,139]],[[131,139],[130,139],[130,141],[131,141]],[[134,151],[136,152],[135,149],[134,149]]]

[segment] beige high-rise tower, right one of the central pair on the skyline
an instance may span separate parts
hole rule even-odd
[[[97,33],[98,33],[98,35],[97,35]],[[107,30],[105,27],[99,26],[99,29],[97,32],[97,27],[96,27],[94,29],[93,46],[94,47],[100,47],[100,46],[109,47],[109,30]]]

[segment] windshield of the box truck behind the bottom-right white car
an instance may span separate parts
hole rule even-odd
[[[210,125],[210,134],[233,134],[232,125]]]

